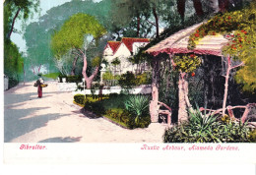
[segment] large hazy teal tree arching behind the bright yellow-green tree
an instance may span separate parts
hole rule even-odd
[[[54,34],[54,31],[59,30],[65,21],[78,13],[96,17],[96,20],[110,31],[112,27],[108,15],[109,10],[110,0],[98,3],[94,3],[93,0],[76,0],[49,9],[45,15],[39,17],[38,22],[31,23],[25,30],[24,37],[28,48],[28,59],[25,60],[26,67],[36,67],[41,64],[46,67],[47,71],[57,72],[58,69],[56,69],[53,59],[54,55],[50,48],[51,35]],[[79,64],[79,61],[80,58],[78,58],[77,64]],[[79,70],[80,68],[77,68],[75,72],[77,73]],[[70,72],[68,73],[70,74]]]

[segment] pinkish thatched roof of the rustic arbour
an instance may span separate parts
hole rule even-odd
[[[222,56],[222,48],[228,40],[221,34],[207,35],[198,41],[195,49],[189,50],[187,48],[190,34],[198,29],[202,24],[203,23],[196,24],[187,29],[181,29],[149,48],[146,52],[155,56],[163,52],[168,54],[195,53]]]

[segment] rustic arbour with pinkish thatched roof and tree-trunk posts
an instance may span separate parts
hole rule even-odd
[[[223,101],[223,108],[222,110],[218,110],[219,112],[222,111],[222,114],[224,115],[225,109],[226,109],[226,98],[227,98],[227,87],[228,87],[228,78],[229,78],[229,73],[232,69],[239,67],[239,66],[243,66],[243,63],[238,63],[236,65],[231,65],[231,58],[229,56],[224,57],[224,55],[222,54],[222,49],[224,47],[224,45],[227,44],[228,40],[226,38],[224,38],[223,35],[221,34],[216,34],[216,35],[207,35],[204,36],[202,39],[200,39],[199,41],[197,41],[196,43],[196,48],[194,48],[193,50],[188,49],[188,44],[189,44],[189,36],[191,35],[191,33],[193,33],[196,29],[198,29],[202,24],[197,24],[194,25],[188,29],[182,29],[172,35],[170,35],[169,37],[165,38],[164,40],[160,41],[160,43],[158,43],[157,45],[149,48],[147,50],[148,53],[154,55],[154,61],[153,61],[153,84],[152,84],[152,101],[151,101],[151,105],[150,105],[150,112],[151,112],[151,118],[152,118],[152,122],[157,122],[158,121],[158,115],[160,113],[160,102],[159,102],[159,83],[160,83],[160,62],[164,59],[162,59],[161,55],[163,55],[163,53],[166,55],[169,55],[169,61],[171,61],[173,63],[173,66],[175,66],[175,63],[173,61],[173,58],[176,54],[196,54],[196,55],[201,55],[204,57],[203,59],[203,68],[205,69],[204,73],[208,73],[208,75],[206,75],[207,78],[210,79],[209,84],[205,84],[206,89],[205,90],[205,98],[209,97],[209,93],[212,90],[212,95],[210,95],[212,98],[214,98],[212,101],[215,103],[215,94],[216,92],[214,92],[214,89],[216,86],[216,82],[213,81],[214,80],[214,75],[211,74],[211,72],[214,71],[219,71],[220,72],[220,67],[219,70],[214,70],[214,69],[209,69],[209,64],[207,64],[207,62],[212,62],[213,61],[211,59],[217,59],[218,61],[215,60],[215,62],[217,62],[217,64],[221,65],[223,64],[225,67],[225,76],[224,78],[222,78],[222,74],[224,74],[224,69],[221,70],[221,74],[218,75],[222,81],[222,85],[224,85],[224,91],[222,91],[222,85],[218,85],[219,89],[221,89],[221,93],[224,96],[222,99]],[[218,57],[220,59],[218,59]],[[213,66],[215,67],[215,66]],[[210,72],[206,72],[208,69],[208,71]],[[221,66],[222,69],[222,66]],[[207,82],[207,79],[205,79],[205,82]],[[209,89],[211,88],[211,89]],[[208,94],[207,94],[208,93]],[[188,113],[187,113],[187,109],[192,109],[191,104],[189,102],[188,99],[188,82],[187,82],[187,73],[185,72],[180,72],[179,74],[179,82],[178,82],[178,100],[179,100],[179,109],[178,109],[178,121],[183,121],[183,120],[187,120],[188,118]],[[220,101],[220,100],[219,100]],[[207,102],[207,100],[205,100],[205,103]],[[254,105],[254,104],[253,104]],[[218,105],[217,105],[218,106]],[[250,104],[251,106],[251,104]],[[239,106],[237,106],[239,107]],[[243,108],[246,108],[246,106],[242,106]],[[230,109],[232,108],[236,108],[235,106],[227,106],[227,111],[228,113],[230,113]],[[247,107],[248,108],[248,107]],[[247,109],[246,108],[246,109]],[[247,109],[248,110],[248,109]],[[248,115],[248,112],[244,112],[247,113],[246,116]],[[244,114],[245,115],[245,114]],[[243,121],[246,118],[246,116],[243,116]]]

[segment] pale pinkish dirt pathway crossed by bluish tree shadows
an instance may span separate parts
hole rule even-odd
[[[47,84],[42,98],[32,83],[4,92],[5,143],[162,143],[165,125],[127,130],[103,118],[89,119],[73,104],[71,92]]]

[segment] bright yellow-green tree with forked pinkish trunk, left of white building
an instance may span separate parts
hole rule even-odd
[[[82,74],[86,80],[87,88],[92,87],[100,62],[98,61],[98,58],[94,61],[95,64],[93,64],[93,66],[95,66],[96,69],[93,74],[88,77],[86,51],[89,46],[88,40],[90,39],[90,36],[85,36],[86,34],[92,35],[91,39],[93,38],[97,45],[98,40],[105,32],[106,30],[96,21],[95,17],[79,13],[66,21],[62,28],[52,36],[51,48],[56,57],[64,55],[70,49],[73,49],[74,55],[83,57],[84,67]]]

